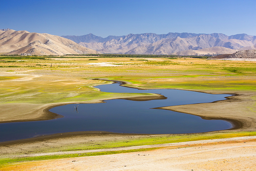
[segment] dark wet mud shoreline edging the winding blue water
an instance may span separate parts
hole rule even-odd
[[[107,79],[95,79],[95,80],[104,80],[104,81],[112,81],[112,82],[121,82],[120,86],[123,84],[129,84],[129,82],[125,82],[125,81],[118,81],[118,80],[107,80]],[[124,86],[124,87],[129,87],[129,86]],[[129,87],[129,88],[135,88],[135,87]],[[143,89],[146,90],[144,88],[135,88],[135,89]],[[153,88],[152,88],[153,89]],[[157,89],[161,89],[161,88],[157,88]],[[179,89],[179,90],[183,90],[183,89]],[[187,91],[193,91],[193,90],[187,90]],[[197,91],[197,92],[202,92],[202,91]],[[205,93],[205,92],[203,92]],[[215,94],[215,93],[209,93],[208,94]],[[217,94],[217,93],[216,93]],[[223,94],[223,93],[218,93],[218,94]],[[228,93],[227,93],[228,94]],[[229,93],[231,96],[225,97],[225,100],[218,100],[218,101],[214,101],[214,102],[210,102],[210,103],[216,103],[216,102],[220,102],[220,101],[226,101],[229,100],[230,97],[236,97],[239,94],[235,94],[235,93]],[[114,98],[114,99],[125,99],[125,100],[134,100],[134,101],[145,101],[145,100],[155,100],[155,99],[165,99],[166,97],[164,97],[163,95],[158,95],[158,96],[137,96],[137,97],[132,97],[132,98]],[[104,103],[104,100],[112,100],[111,99],[101,99],[101,100],[96,100],[94,102],[91,103]],[[38,118],[38,120],[36,119],[30,119],[30,120],[15,120],[15,121],[7,121],[4,123],[10,123],[10,122],[21,122],[21,121],[40,121],[40,120],[50,120],[48,118],[50,118],[49,114],[52,116],[51,119],[57,119],[57,118],[61,118],[64,117],[62,115],[50,112],[49,110],[56,107],[56,106],[62,106],[62,105],[66,105],[66,104],[82,104],[81,102],[67,102],[67,103],[61,103],[61,104],[48,104],[45,108],[42,107],[41,108],[41,112],[43,112],[43,117],[41,116],[40,118]],[[196,103],[196,104],[185,104],[185,105],[199,105],[199,104],[210,104],[210,103]],[[185,106],[185,105],[178,105],[178,106]],[[163,110],[171,110],[171,111],[175,111],[175,112],[180,112],[180,113],[187,113],[187,114],[192,114],[192,115],[196,115],[201,117],[202,119],[206,119],[206,120],[224,120],[224,121],[228,121],[232,124],[232,128],[227,129],[227,130],[217,130],[217,131],[229,131],[229,130],[238,130],[238,129],[242,129],[244,126],[244,122],[240,121],[239,119],[229,119],[229,118],[222,118],[222,117],[210,117],[210,116],[203,116],[203,115],[199,115],[199,114],[195,114],[195,113],[189,113],[189,112],[182,112],[180,110],[175,110],[175,109],[169,109],[172,108],[174,106],[165,106],[165,107],[159,107],[159,108],[153,108],[153,109],[163,109]],[[1,123],[1,122],[0,122]],[[216,132],[216,131],[209,131],[209,132]],[[51,134],[51,135],[41,135],[41,136],[37,136],[37,137],[33,137],[33,138],[26,138],[26,139],[20,139],[20,140],[13,140],[13,141],[5,141],[5,142],[0,142],[0,144],[13,144],[13,143],[18,143],[18,142],[30,142],[30,141],[36,141],[39,138],[47,138],[47,139],[51,139],[51,138],[55,138],[56,136],[61,136],[61,137],[67,137],[67,136],[72,136],[73,134],[75,135],[99,135],[99,134],[112,134],[112,135],[155,135],[155,134],[122,134],[122,133],[114,133],[114,132],[107,132],[107,131],[80,131],[80,132],[65,132],[65,133],[57,133],[57,134]],[[207,132],[201,132],[201,133],[207,133]],[[190,134],[194,134],[194,133],[190,133]],[[157,134],[157,135],[164,135],[164,134]],[[167,134],[166,134],[167,135]]]

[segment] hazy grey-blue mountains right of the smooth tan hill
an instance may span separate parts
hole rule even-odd
[[[102,53],[117,54],[218,55],[256,49],[256,36],[247,34],[143,33],[102,38],[90,33],[61,37]]]

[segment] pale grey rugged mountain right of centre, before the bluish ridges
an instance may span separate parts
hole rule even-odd
[[[219,38],[213,37],[211,35],[199,35],[199,36],[189,37],[189,38],[176,37],[174,39],[159,40],[150,45],[144,45],[144,47],[138,46],[126,52],[126,54],[196,55],[196,54],[217,54],[217,53],[226,54],[226,53],[236,52],[237,50],[233,50],[235,48],[231,48],[230,45],[232,45],[233,47],[235,46],[231,42],[227,44],[227,42]],[[219,47],[219,48],[211,48],[211,47]],[[224,47],[224,48],[220,48],[220,47]],[[199,49],[204,49],[204,50],[195,51]]]

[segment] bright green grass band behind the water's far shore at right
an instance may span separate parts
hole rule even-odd
[[[226,76],[227,79],[223,76]],[[231,79],[229,79],[231,76]],[[214,77],[215,79],[192,79],[196,77]],[[237,78],[236,78],[237,77]],[[166,81],[163,79],[167,78]],[[191,79],[176,79],[168,81],[168,78],[191,78]],[[236,78],[236,79],[233,79]],[[162,89],[188,89],[188,90],[241,90],[241,91],[255,91],[256,80],[246,79],[240,76],[240,74],[226,74],[226,75],[183,75],[183,76],[169,76],[169,77],[143,77],[143,78],[109,78],[110,80],[123,80],[131,82],[127,86],[133,86],[141,88],[162,88]]]

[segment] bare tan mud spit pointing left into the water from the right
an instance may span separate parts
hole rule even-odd
[[[212,92],[223,93],[227,92]],[[182,113],[193,114],[203,119],[227,119],[237,121],[236,131],[255,131],[256,130],[256,108],[255,92],[236,91],[232,92],[236,96],[227,97],[227,100],[212,103],[187,104],[178,106],[166,106],[159,109],[172,110]]]

